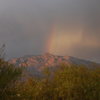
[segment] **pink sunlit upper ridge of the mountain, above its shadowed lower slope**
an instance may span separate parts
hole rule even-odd
[[[51,66],[52,64],[58,64],[58,63],[68,63],[68,64],[82,64],[82,65],[89,65],[93,64],[95,62],[79,59],[72,56],[59,56],[59,55],[53,55],[50,53],[45,53],[43,55],[26,55],[20,58],[13,58],[9,60],[11,64],[18,65],[18,66],[25,66],[25,63],[27,64],[27,67],[29,66],[36,66],[36,65],[46,65]],[[97,63],[96,63],[97,64]]]

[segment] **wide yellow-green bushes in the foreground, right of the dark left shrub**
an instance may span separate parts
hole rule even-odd
[[[100,100],[100,68],[60,67],[41,79],[30,78],[16,88],[17,100]]]

